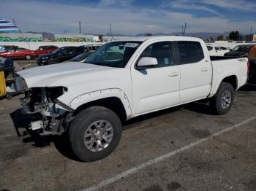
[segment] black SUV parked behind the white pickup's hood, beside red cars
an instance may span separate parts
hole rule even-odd
[[[61,63],[74,58],[77,55],[85,52],[84,47],[60,47],[46,55],[40,55],[37,58],[39,66]]]

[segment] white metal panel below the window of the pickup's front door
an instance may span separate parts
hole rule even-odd
[[[173,73],[177,75],[171,77]],[[179,80],[179,66],[132,71],[135,115],[178,104]]]

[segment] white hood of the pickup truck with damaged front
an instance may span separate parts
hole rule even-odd
[[[40,66],[32,69],[18,71],[30,87],[70,87],[74,84],[85,82],[99,82],[113,78],[113,70],[107,66],[97,66],[89,63],[70,62],[59,63],[48,66]],[[98,74],[100,72],[100,74]]]

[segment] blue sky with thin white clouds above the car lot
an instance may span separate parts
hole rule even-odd
[[[256,0],[0,0],[0,18],[22,32],[113,34],[256,33]]]

